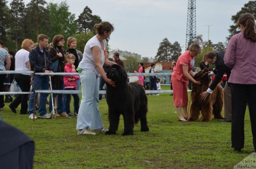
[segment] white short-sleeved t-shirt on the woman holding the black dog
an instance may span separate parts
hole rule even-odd
[[[103,40],[104,44],[104,50],[107,47],[107,41],[106,39]],[[95,73],[96,76],[98,77],[99,72],[98,69],[96,68],[95,62],[94,62],[94,57],[92,54],[92,47],[98,46],[100,48],[100,53],[101,53],[101,65],[104,65],[105,61],[105,56],[104,56],[104,50],[101,49],[100,41],[96,37],[92,37],[85,45],[84,47],[84,55],[82,61],[79,63],[78,67],[80,67],[83,70],[89,71],[91,73]]]

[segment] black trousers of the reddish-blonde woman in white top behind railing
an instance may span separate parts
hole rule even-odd
[[[30,75],[22,75],[22,74],[15,74],[14,75],[15,81],[20,86],[22,92],[29,92],[30,91]],[[10,104],[11,107],[17,108],[20,106],[20,113],[27,113],[28,112],[28,94],[17,94],[16,98]]]

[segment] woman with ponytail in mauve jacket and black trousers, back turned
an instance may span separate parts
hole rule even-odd
[[[243,14],[238,22],[241,32],[232,36],[224,63],[232,69],[228,82],[232,97],[231,140],[235,151],[244,148],[246,99],[250,112],[254,151],[256,151],[256,31],[254,16]]]

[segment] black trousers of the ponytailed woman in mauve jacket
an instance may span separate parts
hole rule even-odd
[[[233,148],[244,148],[244,115],[246,100],[250,113],[252,138],[256,151],[256,85],[242,85],[231,83],[232,98],[232,129],[231,140]]]

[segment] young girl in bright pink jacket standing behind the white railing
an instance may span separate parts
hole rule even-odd
[[[64,67],[64,73],[76,73],[75,69],[75,59],[76,57],[73,54],[66,55],[66,64]],[[76,81],[79,79],[79,76],[63,76],[64,77],[64,88],[65,90],[76,90]],[[75,100],[75,107],[78,112],[79,110],[79,97],[78,94],[72,94]],[[70,112],[70,101],[71,101],[71,94],[67,94],[66,98],[66,113],[67,117],[73,117]],[[77,114],[76,114],[77,116]]]

